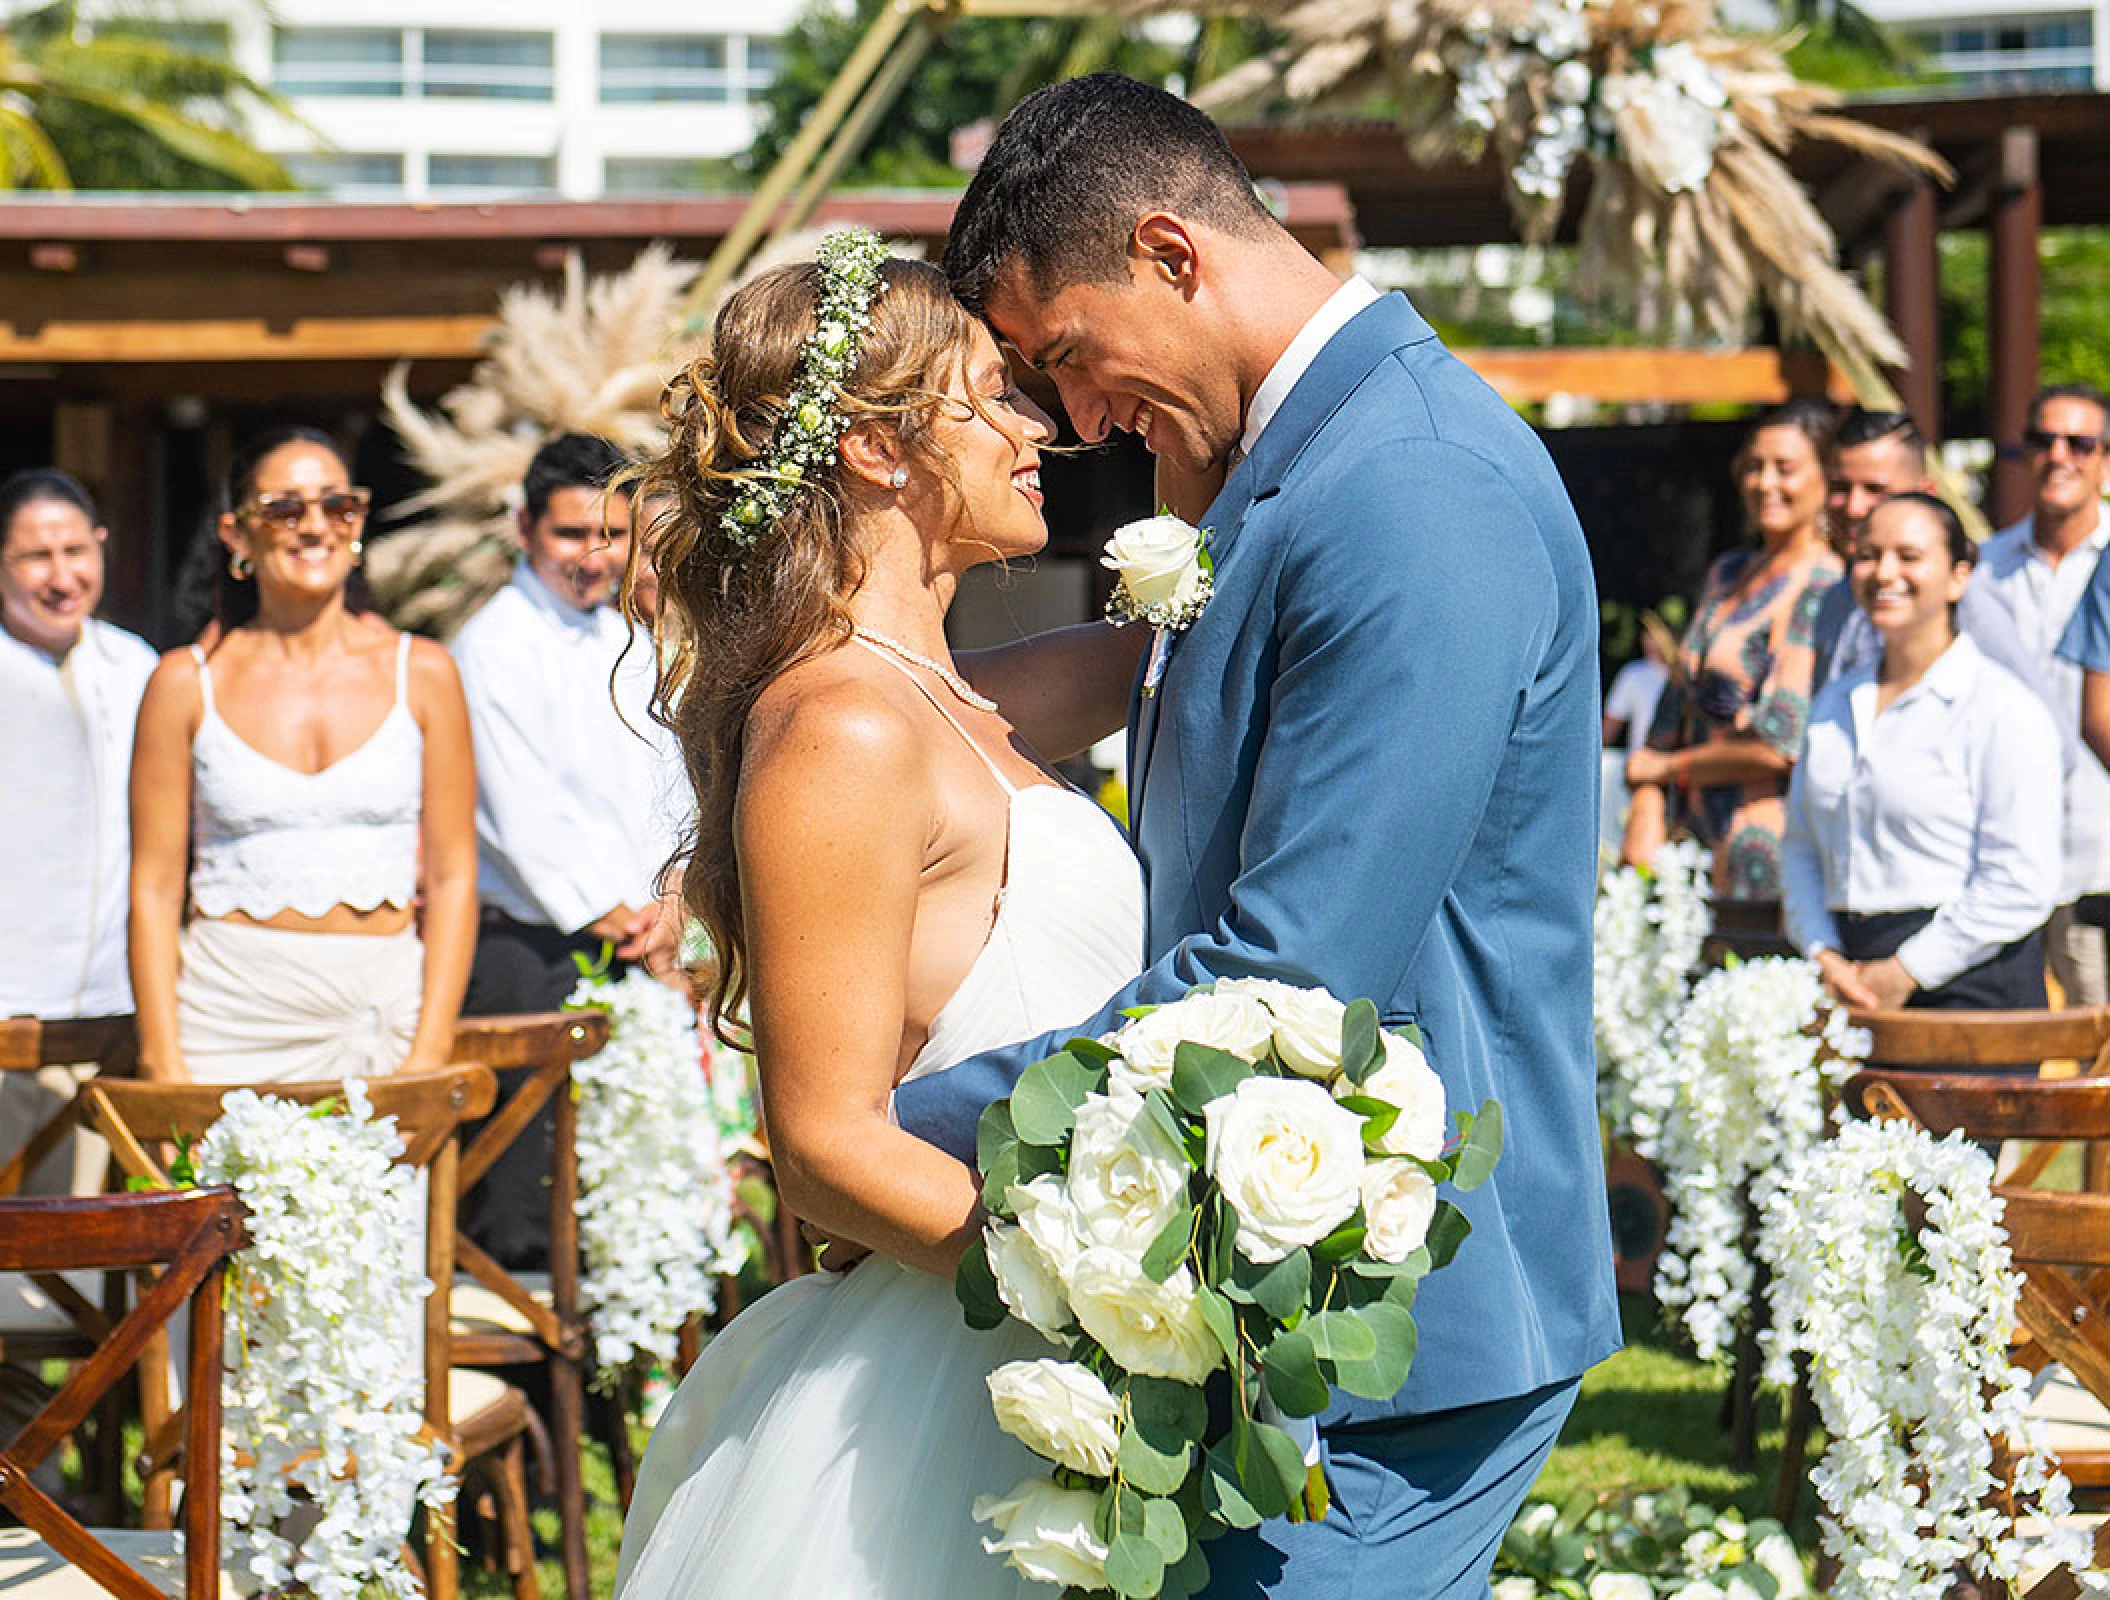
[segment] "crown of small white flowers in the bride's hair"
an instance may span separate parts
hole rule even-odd
[[[762,530],[791,509],[808,475],[833,460],[836,441],[848,426],[836,403],[871,329],[871,302],[886,291],[880,277],[886,243],[871,228],[831,228],[814,251],[814,266],[821,268],[821,304],[800,350],[785,414],[768,454],[753,464],[717,523],[741,549],[753,549]]]

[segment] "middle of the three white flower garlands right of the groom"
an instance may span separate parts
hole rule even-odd
[[[1753,1207],[1823,1138],[1825,1087],[1867,1049],[1812,963],[1766,956],[1707,973],[1669,1049],[1635,1081],[1635,1148],[1663,1169],[1671,1201],[1656,1298],[1684,1313],[1701,1357],[1730,1349],[1751,1304]]]

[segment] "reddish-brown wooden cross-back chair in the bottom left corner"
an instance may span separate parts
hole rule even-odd
[[[0,1507],[21,1526],[0,1528],[0,1589],[36,1600],[219,1600],[219,1336],[222,1273],[247,1241],[232,1188],[171,1195],[0,1199],[0,1271],[158,1269],[133,1309],[0,1450]],[[36,1467],[80,1427],[110,1387],[156,1347],[171,1317],[190,1311],[192,1395],[184,1461],[184,1549],[173,1535],[87,1528],[34,1482]],[[177,1579],[181,1587],[177,1587]]]

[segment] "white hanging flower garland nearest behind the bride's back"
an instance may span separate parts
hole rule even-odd
[[[682,1323],[717,1307],[717,1275],[747,1250],[694,1007],[641,971],[587,975],[565,1007],[608,1011],[608,1045],[572,1081],[580,1300],[612,1378],[641,1357],[671,1361]]]

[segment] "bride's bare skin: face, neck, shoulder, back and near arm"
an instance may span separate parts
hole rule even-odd
[[[850,612],[939,663],[960,576],[1044,545],[1040,445],[1053,437],[979,329],[952,395],[931,445],[956,488],[880,424],[840,443],[867,559]],[[772,680],[747,720],[734,834],[785,1201],[836,1239],[950,1277],[975,1237],[977,1180],[895,1127],[888,1093],[987,937],[1009,800],[918,684],[1011,783],[1051,779],[1002,713],[912,673],[848,644]]]

